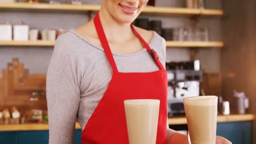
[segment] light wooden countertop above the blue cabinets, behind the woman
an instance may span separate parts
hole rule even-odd
[[[253,114],[246,115],[219,115],[218,122],[240,122],[240,121],[253,121]],[[187,124],[185,117],[170,117],[168,118],[169,125]],[[75,123],[75,129],[80,129],[79,123]],[[0,125],[0,131],[22,131],[22,130],[49,130],[48,124],[8,124]]]

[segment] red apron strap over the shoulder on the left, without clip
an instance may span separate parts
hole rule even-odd
[[[100,20],[100,16],[98,15],[98,13],[96,14],[96,16],[94,17],[94,25],[98,34],[98,38],[100,38],[101,41],[101,45],[104,49],[104,52],[108,58],[108,61],[113,69],[113,73],[118,73],[118,69],[117,69],[117,65],[115,64],[114,61],[114,57],[112,55],[112,52],[110,50],[109,44],[108,44],[108,40],[106,38],[106,35],[104,33],[104,29],[101,25],[101,20]]]

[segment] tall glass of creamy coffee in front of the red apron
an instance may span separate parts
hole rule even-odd
[[[125,100],[125,116],[130,144],[155,144],[160,100]]]

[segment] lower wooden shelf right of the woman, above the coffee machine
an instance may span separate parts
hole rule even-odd
[[[222,41],[166,41],[166,47],[223,47]]]

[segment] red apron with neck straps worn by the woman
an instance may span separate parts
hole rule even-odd
[[[114,62],[98,13],[94,18],[94,25],[113,74],[106,92],[85,125],[82,133],[82,143],[128,144],[124,100],[159,99],[160,109],[156,143],[166,144],[167,76],[156,52],[150,49],[146,41],[131,25],[131,28],[147,48],[149,54],[152,55],[160,70],[150,73],[121,73]]]

